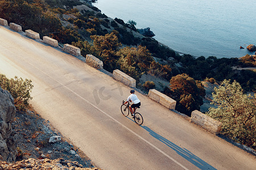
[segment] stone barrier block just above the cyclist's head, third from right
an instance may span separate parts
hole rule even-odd
[[[113,78],[129,87],[136,87],[136,80],[118,69],[113,71]]]

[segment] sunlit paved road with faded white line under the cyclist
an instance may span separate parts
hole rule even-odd
[[[2,26],[0,73],[31,79],[36,111],[103,169],[256,169],[255,156],[138,92],[136,125],[119,109],[129,87]]]

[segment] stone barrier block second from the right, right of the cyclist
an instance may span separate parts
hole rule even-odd
[[[150,99],[152,100],[155,100],[157,103],[164,105],[168,109],[175,109],[176,107],[176,101],[174,99],[162,94],[161,92],[155,89],[151,89],[148,92],[148,97],[150,97]]]

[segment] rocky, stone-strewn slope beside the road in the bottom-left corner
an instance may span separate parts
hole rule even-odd
[[[16,112],[0,87],[0,169],[98,169],[32,108]]]

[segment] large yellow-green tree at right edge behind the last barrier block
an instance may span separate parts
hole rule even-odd
[[[256,141],[256,95],[243,94],[242,87],[234,80],[223,80],[214,88],[210,117],[222,122],[221,133],[246,146]]]

